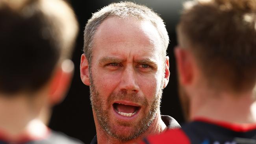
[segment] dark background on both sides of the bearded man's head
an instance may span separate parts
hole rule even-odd
[[[160,17],[165,21],[170,38],[167,53],[170,57],[171,75],[169,84],[163,90],[161,114],[172,116],[180,124],[184,122],[184,118],[178,100],[176,65],[173,48],[177,44],[175,26],[182,9],[182,2],[184,1],[185,0],[132,1],[154,9],[154,11],[160,14]],[[75,64],[75,72],[69,93],[63,103],[54,107],[49,125],[50,128],[56,131],[61,131],[71,137],[82,140],[85,144],[89,144],[95,136],[96,130],[89,100],[89,87],[84,85],[80,79],[79,66],[80,56],[83,53],[83,30],[92,13],[112,2],[119,2],[119,0],[93,0],[89,2],[85,0],[68,0],[67,2],[73,7],[80,24],[80,32],[78,33],[76,47],[72,58]]]

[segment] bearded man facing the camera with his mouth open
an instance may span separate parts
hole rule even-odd
[[[91,144],[136,143],[180,127],[160,114],[170,75],[168,44],[163,20],[146,6],[113,3],[88,20],[80,75],[90,86],[96,126]]]

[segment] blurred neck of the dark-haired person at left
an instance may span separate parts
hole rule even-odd
[[[7,98],[0,96],[0,133],[6,140],[15,142],[20,138],[40,138],[48,128],[35,119],[35,107],[27,96]]]

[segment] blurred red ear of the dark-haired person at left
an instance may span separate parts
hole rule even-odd
[[[60,103],[65,98],[67,90],[70,87],[73,72],[74,63],[69,59],[64,60],[61,66],[57,68],[50,81],[50,104],[54,105]]]

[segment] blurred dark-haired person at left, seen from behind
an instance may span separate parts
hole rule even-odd
[[[0,144],[82,144],[45,125],[69,88],[77,31],[62,0],[0,0]]]

